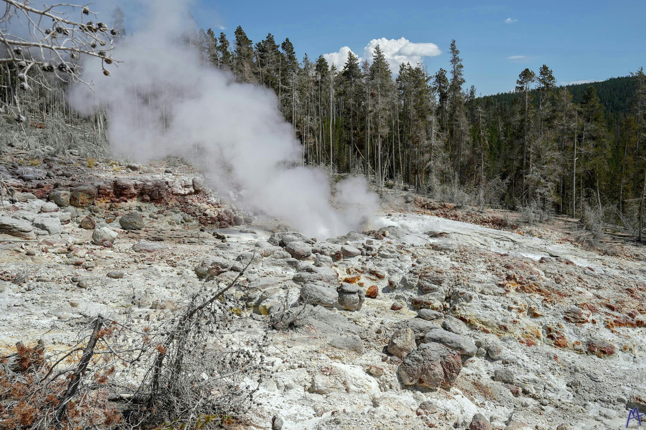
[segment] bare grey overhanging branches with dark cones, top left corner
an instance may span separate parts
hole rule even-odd
[[[61,81],[85,83],[81,79],[79,59],[85,55],[101,59],[103,74],[110,75],[106,64],[112,58],[113,39],[118,32],[105,23],[86,21],[94,16],[89,6],[59,3],[34,8],[28,1],[0,0],[5,12],[0,17],[0,75],[2,87],[9,92],[8,108],[17,122],[24,122],[19,92],[29,91],[32,84],[47,85],[36,72],[54,73]],[[80,21],[68,19],[77,13]],[[31,72],[31,73],[30,73]],[[3,109],[3,106],[0,106]],[[4,109],[3,109],[4,110]]]

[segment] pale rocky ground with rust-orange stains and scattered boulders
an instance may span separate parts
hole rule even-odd
[[[67,347],[74,316],[171,317],[251,261],[226,336],[269,333],[275,373],[240,428],[604,429],[646,409],[640,248],[404,197],[374,230],[315,240],[180,161],[14,153],[0,180],[2,353]]]

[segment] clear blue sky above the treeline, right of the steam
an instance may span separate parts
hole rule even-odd
[[[456,39],[466,84],[483,95],[512,90],[521,70],[537,71],[542,64],[554,70],[559,83],[599,81],[646,66],[644,0],[194,0],[191,10],[203,28],[224,27],[229,41],[238,25],[254,43],[268,32],[276,41],[289,37],[299,58],[343,46],[362,56],[372,39],[382,37],[432,43],[441,54],[424,57],[430,73],[448,70],[448,48]]]

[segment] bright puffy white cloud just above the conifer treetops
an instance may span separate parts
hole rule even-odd
[[[390,71],[393,73],[399,72],[399,64],[401,63],[410,63],[412,66],[415,66],[417,63],[422,63],[424,57],[435,57],[442,54],[442,51],[435,43],[413,43],[405,37],[399,39],[386,39],[386,37],[381,37],[380,39],[372,39],[368,42],[364,48],[362,57],[359,57],[359,61],[368,59],[371,62],[377,45],[379,45],[379,48],[384,53],[384,57],[386,57],[386,61],[390,65]],[[348,52],[352,51],[348,46],[344,46],[338,52],[323,54],[323,57],[328,61],[328,64],[335,64],[340,70],[346,64],[346,61],[348,61]],[[355,54],[354,52],[352,53]]]

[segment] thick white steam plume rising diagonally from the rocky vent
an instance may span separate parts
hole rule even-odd
[[[114,152],[142,162],[189,157],[218,175],[220,183],[211,186],[242,188],[247,204],[313,237],[360,230],[378,207],[366,181],[339,182],[337,203],[346,208],[332,208],[328,178],[300,165],[300,143],[275,94],[235,83],[180,42],[189,25],[185,1],[154,3],[145,28],[114,50],[123,63],[112,75],[104,77],[98,64],[87,64],[84,77],[94,82],[94,92],[79,85],[70,94],[85,112],[99,103],[109,106]]]

